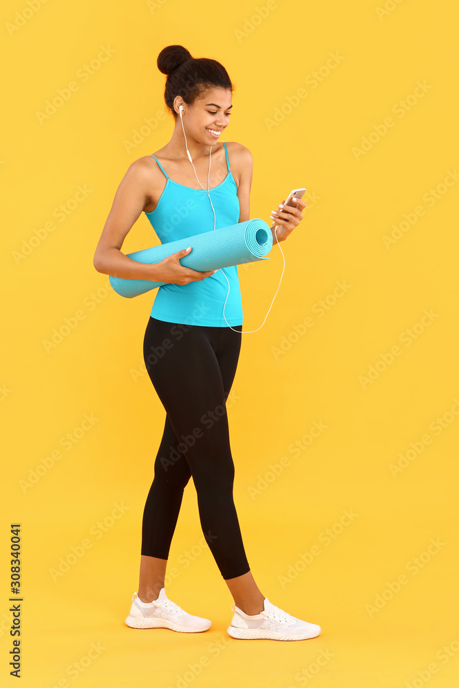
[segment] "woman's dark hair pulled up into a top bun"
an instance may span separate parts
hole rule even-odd
[[[209,88],[235,89],[228,72],[220,62],[206,57],[193,58],[183,45],[167,45],[157,60],[158,69],[167,74],[164,100],[174,119],[178,114],[173,109],[175,96],[182,96],[191,105]]]

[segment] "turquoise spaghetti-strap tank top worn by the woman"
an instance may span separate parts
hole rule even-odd
[[[226,143],[223,144],[228,173],[223,182],[209,190],[215,210],[215,229],[239,222],[237,185],[231,174]],[[161,171],[167,178],[154,211],[145,213],[161,244],[192,237],[213,230],[213,211],[209,196],[204,189],[192,189],[169,178],[155,155]],[[193,241],[190,254],[193,253]],[[222,274],[222,269],[229,281]],[[151,308],[151,317],[167,323],[234,327],[242,325],[242,300],[237,265],[222,268],[204,279],[188,284],[163,284],[158,288]],[[228,294],[228,299],[226,295]],[[223,305],[225,303],[225,317]]]

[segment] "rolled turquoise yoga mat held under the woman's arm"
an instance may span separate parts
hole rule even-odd
[[[167,256],[189,246],[192,247],[191,251],[180,258],[180,265],[206,272],[267,260],[266,253],[269,253],[273,247],[273,233],[264,220],[255,217],[229,227],[127,253],[127,257],[138,263],[159,263]],[[109,280],[116,293],[127,299],[167,284],[167,282],[154,282],[149,279],[126,279],[125,277],[111,277],[111,275]]]

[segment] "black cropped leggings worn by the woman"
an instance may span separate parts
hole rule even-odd
[[[250,570],[235,504],[226,416],[242,325],[211,327],[150,317],[145,365],[166,410],[142,519],[142,555],[167,559],[184,487],[193,476],[202,532],[224,579]]]

